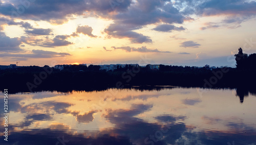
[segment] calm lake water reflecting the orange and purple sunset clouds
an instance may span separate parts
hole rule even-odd
[[[256,144],[256,95],[236,90],[19,93],[8,105],[0,144]]]

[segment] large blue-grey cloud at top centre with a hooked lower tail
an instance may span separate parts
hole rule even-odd
[[[184,17],[172,3],[164,0],[141,0],[129,7],[128,11],[112,17],[114,23],[104,30],[109,37],[128,38],[132,43],[152,43],[152,39],[134,32],[140,28],[158,22],[167,24],[183,23]]]

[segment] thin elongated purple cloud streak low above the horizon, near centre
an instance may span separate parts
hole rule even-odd
[[[130,46],[125,46],[125,47],[112,46],[111,48],[122,49],[122,50],[125,50],[126,52],[164,52],[164,53],[170,53],[170,51],[159,51],[158,49],[147,49],[146,46],[142,46],[142,47],[139,47],[139,48],[134,48],[134,47],[130,47]]]

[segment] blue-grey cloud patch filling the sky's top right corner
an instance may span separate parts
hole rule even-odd
[[[185,15],[196,14],[200,16],[214,15],[255,15],[255,1],[220,1],[220,0],[185,0],[178,1],[175,6],[183,9],[181,12]]]

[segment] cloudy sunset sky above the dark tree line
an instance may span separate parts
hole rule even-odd
[[[255,24],[256,1],[2,0],[0,65],[236,67]]]

